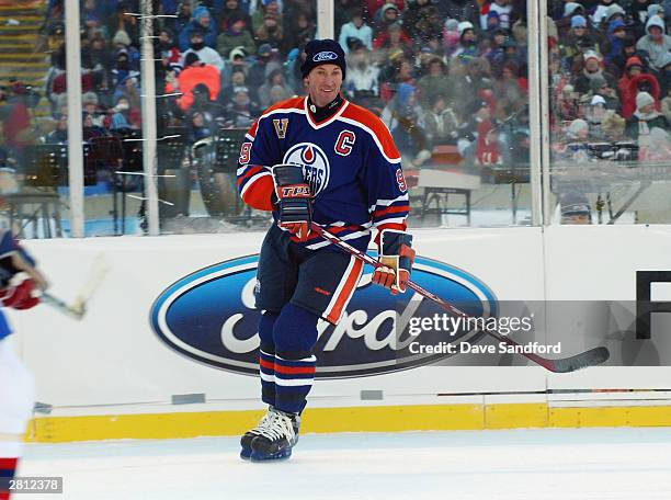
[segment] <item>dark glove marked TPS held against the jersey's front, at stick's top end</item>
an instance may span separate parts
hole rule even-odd
[[[312,221],[312,193],[303,177],[299,164],[276,164],[273,167],[273,181],[280,207],[280,227],[306,241]]]

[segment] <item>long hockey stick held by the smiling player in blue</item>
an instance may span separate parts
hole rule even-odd
[[[310,225],[310,229],[315,231],[317,235],[321,236],[323,239],[343,249],[345,252],[354,255],[356,259],[365,262],[366,264],[372,265],[374,269],[383,266],[382,263],[373,259],[367,253],[355,249],[351,245],[341,240],[336,235],[331,235],[329,231],[325,230],[317,224],[312,223]],[[443,309],[447,310],[450,314],[455,315],[455,316],[460,316],[464,318],[468,318],[468,315],[466,312],[457,309],[455,306],[450,304],[447,300],[439,297],[437,295],[429,292],[428,289],[424,289],[422,286],[418,285],[417,283],[409,281],[407,283],[407,287],[413,289],[414,292],[422,295],[423,297],[427,297],[428,299],[433,300],[439,306],[441,306]],[[505,337],[499,333],[498,331],[493,331],[493,330],[482,330],[482,331],[487,333],[488,336],[493,337],[499,342],[503,342],[508,345],[513,345],[513,346],[522,345],[519,342],[515,342],[514,340],[510,339],[509,337]],[[522,354],[524,357],[533,361],[534,363],[543,366],[545,370],[548,370],[553,373],[569,373],[569,372],[575,372],[577,370],[587,368],[589,366],[599,365],[599,364],[605,363],[611,355],[607,348],[604,348],[604,346],[593,348],[593,349],[590,349],[589,351],[584,351],[580,354],[576,354],[575,356],[560,357],[558,360],[550,360],[548,357],[543,357],[534,353],[526,353],[522,351],[520,351],[520,354]]]

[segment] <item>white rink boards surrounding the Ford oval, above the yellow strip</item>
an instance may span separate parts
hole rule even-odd
[[[635,270],[669,269],[671,263],[668,226],[424,229],[413,235],[419,255],[477,276],[500,300],[633,300]],[[202,365],[172,351],[151,330],[149,310],[177,280],[254,254],[262,238],[243,232],[25,241],[53,282],[50,292],[68,302],[96,255],[111,264],[83,321],[47,306],[11,314],[20,332],[15,342],[36,378],[37,400],[56,408],[79,407],[73,411],[80,414],[93,411],[87,407],[94,405],[170,404],[173,395],[184,394],[205,394],[207,401],[230,409],[259,405],[255,377]],[[533,366],[436,366],[319,380],[310,396],[312,406],[322,407],[384,404],[361,401],[361,390],[382,390],[395,405],[448,402],[435,395],[548,387],[666,388],[661,386],[670,374],[669,368],[607,367],[548,377]],[[511,396],[511,400],[527,399]],[[127,412],[133,411],[128,407]]]

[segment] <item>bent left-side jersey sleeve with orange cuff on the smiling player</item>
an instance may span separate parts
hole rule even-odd
[[[266,121],[259,118],[246,135],[238,159],[238,192],[242,201],[259,211],[271,212],[274,207],[275,185],[271,167],[278,151],[266,130]]]

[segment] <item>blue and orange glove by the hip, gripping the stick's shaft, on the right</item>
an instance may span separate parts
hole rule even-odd
[[[383,266],[373,273],[373,283],[389,288],[393,295],[405,293],[414,262],[412,236],[394,229],[383,230],[378,260]]]

